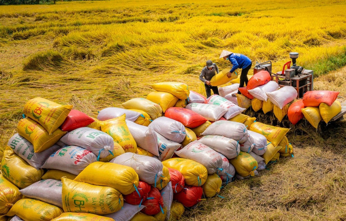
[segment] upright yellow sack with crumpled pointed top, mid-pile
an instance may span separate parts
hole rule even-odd
[[[128,125],[126,125],[125,120],[126,114],[102,121],[101,130],[111,135],[114,143],[118,143],[121,147],[123,147],[125,152],[135,153],[137,150],[137,144],[130,133]]]

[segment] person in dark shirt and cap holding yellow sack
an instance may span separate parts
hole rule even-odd
[[[202,69],[201,74],[199,75],[199,79],[204,82],[204,87],[206,88],[207,98],[212,96],[211,90],[213,90],[214,94],[218,94],[217,86],[212,86],[210,84],[210,80],[215,74],[218,74],[218,68],[215,63],[211,60],[207,61],[207,66]]]

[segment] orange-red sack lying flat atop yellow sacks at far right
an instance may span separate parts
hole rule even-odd
[[[339,93],[338,91],[307,91],[303,96],[303,103],[305,107],[318,107],[321,103],[332,106]]]

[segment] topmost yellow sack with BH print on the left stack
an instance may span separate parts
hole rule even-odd
[[[43,128],[52,134],[65,121],[72,110],[72,105],[59,105],[44,98],[34,98],[24,105],[24,114],[40,123]]]

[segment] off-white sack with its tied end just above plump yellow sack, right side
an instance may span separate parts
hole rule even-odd
[[[233,159],[240,153],[239,142],[224,136],[207,135],[198,140],[202,144],[222,153],[228,159]]]

